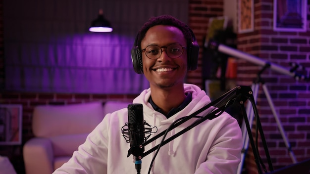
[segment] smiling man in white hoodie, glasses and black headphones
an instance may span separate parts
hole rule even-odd
[[[206,92],[184,84],[188,69],[195,69],[198,52],[194,36],[183,22],[169,15],[151,18],[139,31],[132,58],[135,71],[143,73],[150,88],[133,100],[143,104],[144,120],[157,133],[175,120],[189,116],[210,103]],[[189,60],[190,59],[190,60]],[[195,65],[196,63],[196,65]],[[189,65],[191,64],[191,65]],[[184,130],[195,119],[168,132]],[[129,144],[121,135],[128,123],[127,108],[107,114],[72,158],[54,174],[136,174]],[[156,135],[153,134],[152,136]],[[235,174],[241,159],[242,137],[233,117],[222,113],[163,145],[155,158],[152,174]],[[159,144],[160,138],[145,146]],[[147,174],[155,152],[142,159],[141,174]]]

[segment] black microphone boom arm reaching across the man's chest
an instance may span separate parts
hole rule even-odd
[[[143,157],[149,155],[150,153],[154,152],[156,149],[159,149],[160,148],[159,146],[167,144],[168,142],[172,141],[176,137],[178,137],[178,136],[182,135],[183,133],[191,130],[192,128],[196,127],[197,125],[203,123],[204,121],[212,120],[212,119],[218,117],[222,112],[224,112],[224,110],[228,106],[232,105],[233,103],[238,102],[239,104],[242,105],[243,110],[245,110],[244,109],[244,103],[246,102],[247,99],[249,99],[251,101],[252,106],[254,108],[254,111],[257,111],[256,105],[255,105],[255,101],[254,101],[253,91],[252,91],[251,87],[238,86],[238,87],[235,87],[235,88],[231,89],[230,91],[224,93],[219,98],[217,98],[216,100],[210,102],[209,104],[207,104],[203,108],[199,109],[195,113],[193,113],[193,114],[191,114],[189,116],[186,116],[184,119],[182,119],[179,122],[171,125],[171,127],[166,129],[165,131],[162,131],[162,132],[158,133],[157,135],[155,135],[154,137],[152,137],[151,139],[143,142],[141,144],[142,147],[144,147],[147,144],[153,142],[157,138],[159,138],[162,135],[164,135],[167,131],[171,131],[172,129],[180,126],[181,124],[185,123],[186,121],[188,121],[188,120],[190,120],[192,118],[198,118],[194,123],[192,123],[190,126],[186,127],[184,130],[177,132],[176,134],[174,134],[171,137],[169,137],[169,138],[165,139],[164,141],[162,141],[160,144],[158,144],[155,147],[151,148],[150,150],[144,152],[141,155],[141,157],[143,158]],[[202,116],[198,116],[198,114],[202,114]],[[256,117],[258,118],[258,113],[256,112],[255,114],[256,114]],[[243,112],[243,115],[244,115],[245,122],[249,122],[247,120],[246,112]],[[263,134],[262,130],[260,130],[260,133]],[[255,148],[255,144],[254,144],[254,140],[253,140],[253,136],[252,136],[252,131],[248,130],[248,134],[249,134],[250,139],[252,137],[251,144],[253,145],[253,148]],[[265,144],[265,140],[264,139],[262,140],[262,142],[263,142],[263,144]],[[265,147],[265,151],[266,151],[267,161],[268,161],[268,164],[269,164],[269,169],[273,169],[268,149],[267,149],[266,145],[264,147]],[[260,158],[259,154],[258,154],[257,151],[254,151],[253,153],[254,153],[254,156],[255,156],[255,159],[256,159],[255,161],[256,161],[257,166],[258,166],[258,172],[259,172],[259,174],[261,174],[260,164],[259,164],[259,160],[258,160]]]

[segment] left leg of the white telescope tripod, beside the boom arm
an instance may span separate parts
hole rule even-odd
[[[252,91],[253,91],[253,96],[256,101],[257,95],[258,95],[258,89],[259,89],[259,84],[252,84]],[[252,124],[253,124],[253,119],[254,119],[254,112],[253,112],[253,107],[250,101],[247,103],[247,116],[248,116],[248,121],[250,125],[250,129],[252,129]],[[237,169],[237,174],[241,174],[242,172],[242,167],[243,163],[245,160],[245,156],[247,155],[247,151],[249,148],[249,136],[247,134],[247,128],[245,125],[245,122],[242,123],[242,142],[243,142],[243,148],[242,148],[242,154],[241,154],[241,162],[239,163],[238,169]]]

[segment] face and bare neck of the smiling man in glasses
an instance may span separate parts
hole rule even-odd
[[[165,115],[178,108],[186,97],[183,80],[187,72],[187,44],[182,36],[176,27],[156,25],[141,42],[145,53],[143,73],[150,82],[153,102]]]

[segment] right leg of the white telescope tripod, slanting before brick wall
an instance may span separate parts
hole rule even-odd
[[[268,89],[267,89],[267,87],[264,84],[262,84],[262,89],[263,89],[263,91],[264,91],[264,93],[266,95],[266,98],[267,98],[267,101],[269,103],[270,109],[271,109],[272,114],[273,114],[273,116],[275,118],[275,121],[277,122],[278,128],[279,128],[279,130],[281,132],[281,135],[282,135],[282,138],[283,138],[283,140],[285,142],[285,145],[288,148],[288,151],[289,151],[289,154],[290,154],[290,156],[291,156],[291,158],[293,160],[293,163],[297,163],[297,160],[295,158],[294,152],[292,151],[291,145],[290,145],[290,143],[287,140],[287,137],[286,137],[286,135],[284,133],[284,129],[283,129],[283,127],[281,125],[281,122],[280,122],[280,120],[278,118],[278,115],[277,115],[277,113],[276,113],[276,111],[274,109],[274,105],[273,105],[272,99],[270,97],[270,94],[268,92]]]

